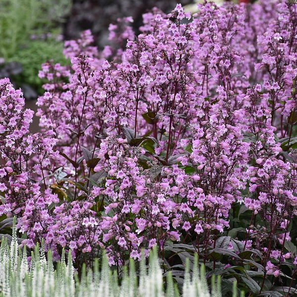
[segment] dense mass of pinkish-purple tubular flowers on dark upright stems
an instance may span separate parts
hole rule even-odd
[[[23,244],[43,239],[56,258],[64,247],[90,264],[105,249],[121,266],[181,242],[205,262],[249,212],[227,251],[257,250],[264,276],[285,264],[295,275],[296,10],[153,9],[136,37],[131,18],[110,25],[102,51],[85,31],[65,43],[71,69],[42,65],[34,135],[21,92],[0,80],[0,214],[19,217]]]

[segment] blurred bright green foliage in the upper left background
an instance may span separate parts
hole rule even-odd
[[[71,5],[72,0],[0,0],[0,68],[20,63],[22,71],[13,75],[17,85],[41,91],[41,64],[50,58],[66,62],[60,34]]]

